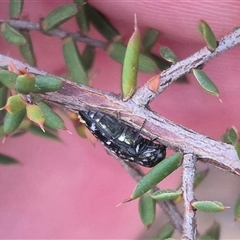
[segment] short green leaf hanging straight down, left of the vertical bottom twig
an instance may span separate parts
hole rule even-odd
[[[140,197],[138,202],[138,211],[142,223],[150,227],[155,220],[156,215],[156,201],[149,196],[149,194],[144,194]]]

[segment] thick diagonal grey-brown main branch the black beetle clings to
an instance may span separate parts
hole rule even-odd
[[[35,74],[48,75],[44,71],[4,55],[0,55],[0,67],[6,66],[10,60],[18,68],[28,67],[30,72]],[[116,94],[62,80],[63,87],[59,91],[38,94],[38,96],[76,113],[80,109],[93,109],[109,114],[120,113],[122,120],[137,129],[140,129],[143,122],[147,120],[142,131],[152,139],[158,139],[162,144],[176,151],[192,153],[203,163],[240,175],[240,161],[232,145],[213,140],[178,125],[147,108],[139,107],[131,99],[123,102]]]

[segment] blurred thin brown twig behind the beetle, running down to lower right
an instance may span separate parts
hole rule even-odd
[[[123,168],[128,172],[128,174],[136,181],[139,182],[141,178],[144,176],[144,173],[139,168],[138,165],[120,161]],[[155,191],[159,190],[158,187],[154,188]],[[177,229],[180,233],[183,232],[183,217],[178,212],[175,204],[172,201],[157,201],[157,204],[163,209],[166,215],[169,216],[172,225],[175,229]]]

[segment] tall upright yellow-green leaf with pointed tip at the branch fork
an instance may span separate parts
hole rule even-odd
[[[138,62],[141,47],[141,35],[135,19],[134,32],[129,39],[122,70],[122,95],[123,101],[133,95],[137,86]]]

